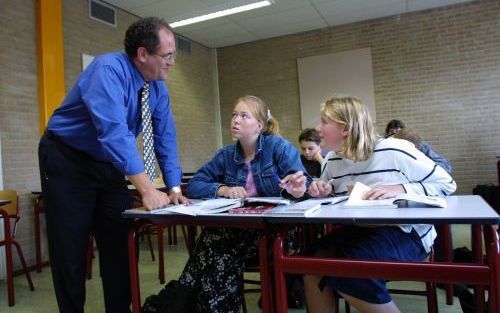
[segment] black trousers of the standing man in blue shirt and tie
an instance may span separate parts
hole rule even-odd
[[[130,312],[125,177],[46,132],[38,147],[50,265],[59,311],[83,313],[89,235],[99,250],[107,313]]]

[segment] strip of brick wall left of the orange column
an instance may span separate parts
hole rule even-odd
[[[0,4],[0,136],[3,185],[20,193],[17,239],[34,263],[33,196],[38,175],[38,93],[34,1]],[[17,252],[14,262],[18,265]]]

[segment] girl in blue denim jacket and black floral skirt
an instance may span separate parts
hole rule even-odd
[[[303,174],[297,149],[278,136],[278,122],[261,99],[236,100],[231,133],[236,143],[217,151],[194,175],[190,198],[303,196],[311,179]],[[256,255],[258,238],[255,229],[204,227],[179,278],[198,293],[201,312],[240,312],[245,260]]]

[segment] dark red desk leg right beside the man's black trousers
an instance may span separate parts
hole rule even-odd
[[[137,266],[136,236],[141,222],[135,222],[128,233],[128,262],[130,272],[130,295],[132,298],[132,313],[141,312],[141,287],[139,285],[139,268]]]

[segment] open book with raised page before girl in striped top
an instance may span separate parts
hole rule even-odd
[[[407,193],[401,193],[395,198],[382,199],[382,200],[363,200],[363,195],[371,190],[370,187],[357,182],[354,185],[349,200],[344,204],[345,208],[377,208],[377,209],[396,209],[398,208],[398,203],[400,201],[406,200],[410,202],[415,202],[418,207],[438,207],[446,208],[446,200],[442,197],[431,197],[424,195],[410,195]]]

